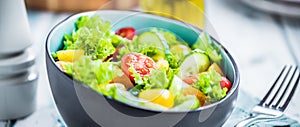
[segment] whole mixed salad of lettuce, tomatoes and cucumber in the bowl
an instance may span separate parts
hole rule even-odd
[[[220,46],[206,34],[189,46],[172,31],[124,27],[112,31],[100,16],[82,16],[53,52],[73,79],[115,100],[154,110],[192,110],[231,89],[219,64]]]

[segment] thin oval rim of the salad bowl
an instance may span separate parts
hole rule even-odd
[[[233,78],[234,79],[233,79],[233,83],[232,83],[233,87],[231,88],[231,90],[227,93],[227,95],[224,98],[222,98],[221,100],[219,100],[217,102],[214,102],[212,104],[205,105],[205,106],[199,107],[197,109],[193,109],[193,110],[180,110],[180,111],[174,111],[174,110],[155,110],[155,109],[146,108],[146,107],[142,107],[142,106],[136,106],[136,105],[132,105],[132,104],[128,104],[128,103],[124,103],[124,102],[115,100],[115,99],[113,99],[111,97],[105,96],[105,95],[103,95],[101,93],[98,93],[98,92],[92,90],[90,87],[88,87],[87,85],[85,85],[83,83],[80,83],[80,82],[74,80],[73,78],[71,78],[70,76],[68,76],[66,73],[64,73],[61,69],[59,69],[59,67],[55,64],[55,61],[54,61],[54,59],[51,56],[50,40],[51,40],[51,38],[53,36],[53,33],[57,29],[59,29],[60,26],[62,26],[65,23],[67,23],[67,21],[72,20],[74,18],[79,18],[80,16],[84,16],[84,15],[91,16],[93,14],[97,14],[97,12],[120,12],[120,13],[137,13],[138,12],[138,13],[142,13],[143,15],[146,15],[146,16],[160,18],[162,20],[166,20],[166,21],[169,21],[169,22],[171,21],[171,22],[175,22],[175,23],[188,24],[188,25],[194,27],[195,30],[203,32],[202,29],[200,29],[200,28],[198,28],[198,27],[196,27],[196,26],[194,26],[192,24],[189,24],[187,22],[183,22],[183,21],[180,21],[180,20],[163,17],[163,16],[160,16],[160,15],[155,15],[155,14],[152,14],[152,13],[149,13],[149,12],[141,12],[141,11],[136,11],[136,10],[94,10],[94,11],[86,11],[86,12],[79,12],[79,13],[71,14],[70,16],[67,16],[65,19],[61,20],[60,22],[58,22],[56,25],[54,25],[52,27],[52,29],[50,30],[50,32],[47,35],[45,48],[46,48],[46,54],[47,54],[46,57],[49,57],[49,59],[51,60],[51,63],[55,65],[55,68],[59,72],[63,73],[63,75],[65,76],[65,78],[73,80],[73,82],[74,82],[73,85],[75,85],[75,83],[76,84],[80,84],[83,87],[91,90],[92,92],[95,92],[95,93],[99,94],[100,96],[105,97],[105,99],[110,99],[110,100],[113,100],[113,101],[115,101],[115,102],[117,102],[119,104],[126,105],[126,106],[129,106],[129,107],[132,107],[132,108],[137,108],[137,109],[140,109],[140,110],[145,110],[145,111],[150,111],[150,112],[155,112],[155,113],[161,113],[161,112],[163,112],[163,113],[190,113],[190,112],[199,112],[199,111],[202,111],[202,110],[205,110],[205,109],[216,107],[217,105],[223,103],[228,98],[230,98],[231,96],[233,96],[234,92],[238,92],[238,87],[239,87],[239,84],[240,84],[240,73],[239,73],[239,69],[237,67],[237,64],[236,64],[235,60],[233,59],[232,55],[229,53],[229,51],[219,41],[217,41],[214,37],[212,37],[210,34],[209,34],[209,36],[211,37],[211,39],[213,39],[216,44],[220,45],[221,48],[222,48],[222,50],[224,51],[224,53],[227,55],[227,57],[228,57],[228,59],[230,61],[229,63],[232,66],[233,73],[234,73],[233,74]],[[184,26],[186,26],[186,25],[184,25]]]

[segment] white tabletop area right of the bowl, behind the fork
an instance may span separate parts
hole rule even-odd
[[[262,13],[237,0],[207,2],[208,19],[237,61],[241,89],[262,98],[283,65],[299,65],[300,19]],[[286,114],[300,121],[296,98],[299,88]]]

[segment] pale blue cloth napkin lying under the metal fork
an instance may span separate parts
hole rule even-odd
[[[240,90],[237,105],[229,119],[223,125],[224,127],[233,127],[239,121],[248,118],[252,108],[259,103],[259,99],[253,98],[245,91]],[[300,127],[298,121],[283,115],[276,119],[258,120],[249,123],[247,127]]]

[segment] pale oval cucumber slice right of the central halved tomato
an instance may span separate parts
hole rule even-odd
[[[202,50],[193,50],[187,54],[181,64],[177,76],[185,78],[200,72],[206,71],[210,65],[209,57]]]

